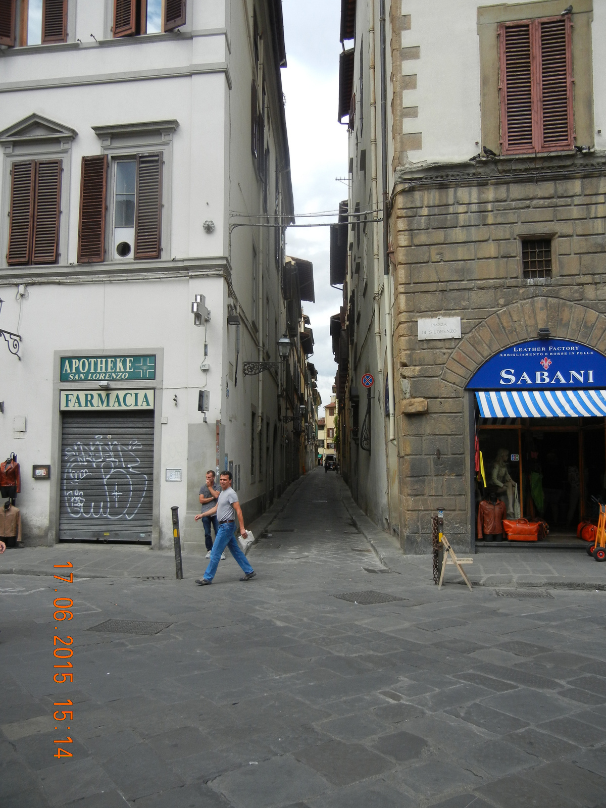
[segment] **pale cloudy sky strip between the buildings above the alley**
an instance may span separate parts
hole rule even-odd
[[[347,127],[337,121],[339,101],[339,0],[283,0],[288,67],[282,70],[290,145],[292,190],[297,213],[335,211],[347,199]],[[309,222],[297,219],[297,223]],[[320,220],[314,220],[320,221]],[[322,221],[336,221],[336,218]],[[330,315],[339,312],[341,292],[330,288],[330,229],[286,233],[287,255],[314,263],[316,303],[304,303],[314,330],[319,415],[330,402],[337,366],[332,356]]]

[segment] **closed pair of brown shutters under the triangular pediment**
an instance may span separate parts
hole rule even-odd
[[[62,160],[25,160],[11,166],[9,266],[59,259]]]

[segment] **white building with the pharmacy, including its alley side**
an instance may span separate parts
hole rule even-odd
[[[207,469],[246,519],[290,482],[280,0],[38,5],[0,25],[0,329],[19,335],[0,454],[24,541],[168,546],[176,505],[195,549]]]

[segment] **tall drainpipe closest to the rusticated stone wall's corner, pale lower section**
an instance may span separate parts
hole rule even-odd
[[[387,378],[389,381],[389,440],[396,437],[395,397],[393,391],[393,330],[391,323],[391,273],[389,269],[389,221],[387,194],[387,84],[385,77],[385,0],[379,0],[381,38],[381,182],[383,184],[383,283],[385,292],[385,330],[387,331]]]

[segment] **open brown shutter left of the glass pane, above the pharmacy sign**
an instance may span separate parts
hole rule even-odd
[[[107,154],[83,157],[80,175],[78,263],[105,259]]]

